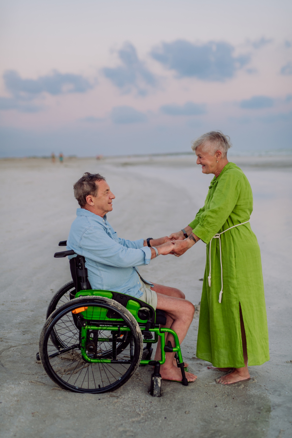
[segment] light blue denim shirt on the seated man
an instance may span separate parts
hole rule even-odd
[[[67,249],[85,257],[92,289],[122,292],[139,298],[142,292],[136,266],[147,265],[151,259],[151,250],[143,243],[143,239],[121,239],[106,216],[101,218],[84,208],[77,208]]]

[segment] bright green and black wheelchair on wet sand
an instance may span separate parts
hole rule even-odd
[[[67,241],[59,242],[66,246]],[[179,339],[175,331],[161,328],[166,317],[144,301],[114,291],[92,290],[85,258],[74,251],[55,253],[70,259],[72,281],[53,296],[40,334],[39,353],[48,376],[63,389],[100,394],[113,391],[134,374],[139,365],[154,366],[150,394],[161,396],[160,365],[166,352],[175,352],[187,385]],[[165,333],[171,333],[175,346]],[[152,344],[161,339],[161,360],[151,360]],[[145,347],[144,347],[145,344]]]

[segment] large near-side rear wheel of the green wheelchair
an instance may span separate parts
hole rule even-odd
[[[89,310],[80,310],[81,308]],[[114,310],[122,321],[111,320],[105,323],[96,316],[98,312],[101,314],[102,310],[100,309]],[[74,321],[72,318],[73,310],[77,310],[78,315],[74,314]],[[77,327],[76,319],[78,319]],[[110,363],[91,363],[82,357],[81,328],[86,324],[96,327],[96,329],[88,330],[88,336],[91,336],[92,332],[93,338],[89,337],[87,340],[87,354],[94,358],[89,350],[93,344],[95,358],[107,358]],[[111,333],[110,329],[99,330],[98,327],[101,326],[128,328],[129,331],[124,332],[128,333],[128,347],[121,352],[118,351],[116,348],[117,338],[113,336],[115,332]],[[67,347],[60,349],[52,342],[52,333],[55,333],[55,327],[58,327],[58,336]],[[94,333],[98,336],[95,340]],[[109,345],[111,346],[109,347]],[[111,358],[109,351],[111,351]],[[142,351],[142,333],[133,315],[116,301],[99,296],[75,298],[56,309],[47,319],[39,340],[40,360],[49,377],[60,387],[79,393],[98,394],[122,386],[137,369],[141,361]]]

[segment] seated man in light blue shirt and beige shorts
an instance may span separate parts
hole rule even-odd
[[[85,257],[92,289],[126,293],[145,301],[154,309],[164,310],[164,327],[175,330],[182,343],[193,320],[194,305],[184,299],[179,289],[144,280],[137,268],[149,264],[150,260],[160,254],[169,254],[174,242],[168,237],[133,241],[118,237],[107,219],[115,196],[105,178],[98,173],[86,172],[74,184],[74,196],[81,208],[77,209],[77,218],[71,226],[67,249]],[[168,341],[173,343],[173,336],[169,333],[166,344]],[[166,353],[160,373],[165,380],[182,381],[181,370],[177,367],[174,355]],[[159,340],[154,360],[160,359]],[[185,375],[189,382],[197,378],[189,372]]]

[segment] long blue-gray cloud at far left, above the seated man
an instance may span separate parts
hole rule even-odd
[[[6,89],[11,94],[28,99],[42,92],[55,96],[64,93],[84,93],[93,88],[91,83],[79,74],[63,74],[57,71],[37,79],[22,79],[16,71],[9,70],[3,74],[3,79]]]

